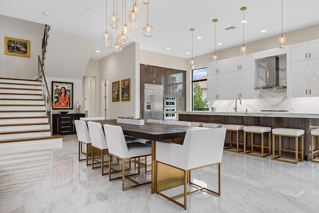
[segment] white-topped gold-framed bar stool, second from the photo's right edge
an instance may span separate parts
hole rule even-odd
[[[273,160],[276,161],[283,161],[291,164],[298,164],[299,162],[302,162],[304,160],[304,134],[305,130],[303,129],[291,129],[291,128],[275,128],[272,130],[273,132]],[[275,136],[279,136],[279,156],[275,157]],[[288,149],[282,149],[281,144],[281,137],[287,136],[287,137],[294,137],[295,138],[295,150],[288,150]],[[298,151],[298,138],[301,137],[301,151]],[[286,156],[282,156],[281,152],[293,152],[295,153],[295,158],[290,158]],[[298,153],[301,153],[301,159],[298,159]],[[280,158],[284,159],[290,159],[295,161],[287,161],[282,160]]]

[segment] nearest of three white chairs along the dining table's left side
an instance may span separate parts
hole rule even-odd
[[[133,175],[140,175],[140,164],[138,164],[138,172],[135,174],[125,175],[125,160],[131,160],[134,158],[146,157],[152,155],[152,147],[143,143],[126,143],[123,134],[122,127],[105,124],[104,132],[106,141],[108,143],[109,155],[117,157],[122,160],[122,177],[111,177],[111,162],[109,162],[109,181],[122,178],[122,190],[131,189],[133,187],[145,185],[151,183],[151,181],[144,183],[138,183],[131,179]],[[125,187],[125,179],[132,181],[134,186]]]

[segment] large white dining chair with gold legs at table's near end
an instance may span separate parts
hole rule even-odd
[[[180,207],[187,209],[187,195],[200,190],[206,190],[220,196],[221,188],[221,168],[220,163],[222,160],[224,141],[226,135],[226,128],[217,129],[194,129],[187,130],[184,143],[182,145],[174,143],[165,143],[156,141],[156,163],[157,163],[157,194],[168,199],[169,201],[177,204]],[[218,164],[218,191],[212,191],[206,188],[206,185],[200,184],[196,181],[195,184],[191,178],[191,171]],[[160,189],[166,189],[165,184],[171,180],[170,177],[163,177],[162,173],[165,171],[160,170],[163,165],[173,167],[183,173],[183,190],[180,195],[169,197],[164,195],[165,192],[160,192]],[[177,172],[177,171],[176,171]],[[187,175],[189,176],[189,185],[196,188],[187,192]],[[165,175],[167,176],[167,175]],[[166,182],[167,181],[167,182]],[[164,186],[163,186],[164,185]],[[177,202],[175,199],[183,197],[184,204]]]

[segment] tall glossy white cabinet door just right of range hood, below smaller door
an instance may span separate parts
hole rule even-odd
[[[290,93],[292,97],[308,94],[308,61],[290,63]]]

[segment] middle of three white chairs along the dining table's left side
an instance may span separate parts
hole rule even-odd
[[[109,152],[102,126],[100,123],[88,121],[88,128],[92,145],[92,169],[98,168],[94,167],[94,150],[99,150],[101,152],[102,176],[106,175],[108,173],[104,173],[104,163],[108,161],[104,161],[104,155],[109,156]]]

